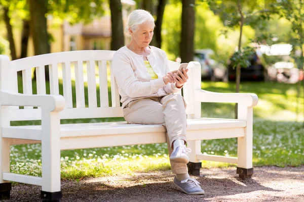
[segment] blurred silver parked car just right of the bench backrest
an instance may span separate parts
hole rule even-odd
[[[227,68],[210,58],[214,52],[211,49],[197,49],[194,54],[194,61],[198,61],[202,68],[202,79],[208,79],[212,81],[227,81],[228,74]]]

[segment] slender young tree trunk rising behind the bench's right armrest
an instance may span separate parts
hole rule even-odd
[[[240,20],[240,38],[239,38],[239,45],[238,50],[240,51],[242,48],[242,33],[243,33],[243,25],[244,25],[244,16],[242,13],[242,6],[240,0],[238,0],[238,9],[241,15]],[[241,66],[238,65],[236,69],[236,92],[240,92],[240,83],[241,83]],[[235,106],[235,118],[238,119],[238,104]]]

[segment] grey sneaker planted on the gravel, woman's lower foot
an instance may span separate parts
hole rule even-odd
[[[205,194],[205,191],[201,188],[200,183],[194,178],[187,178],[179,181],[176,177],[174,177],[174,184],[179,190],[189,195]]]

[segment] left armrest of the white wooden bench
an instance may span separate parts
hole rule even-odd
[[[60,112],[64,109],[65,102],[62,95],[22,94],[1,90],[0,105],[42,107],[50,112]]]

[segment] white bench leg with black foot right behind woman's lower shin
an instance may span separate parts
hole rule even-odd
[[[196,155],[201,154],[201,140],[187,141],[187,147],[191,148],[192,150],[191,153],[188,154],[188,173],[194,176],[199,176],[200,168],[202,168],[202,162],[197,160]]]

